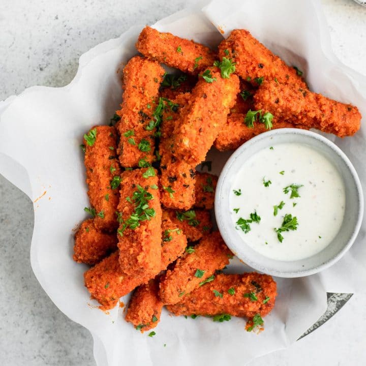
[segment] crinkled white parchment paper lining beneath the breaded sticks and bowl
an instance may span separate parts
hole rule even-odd
[[[243,319],[214,323],[164,312],[157,334],[150,338],[125,322],[123,308],[109,314],[96,309],[83,285],[87,267],[72,260],[72,229],[85,219],[83,207],[89,205],[79,144],[86,130],[108,123],[118,109],[122,91],[117,71],[136,54],[134,44],[143,26],[83,54],[69,85],[35,86],[0,102],[0,173],[34,202],[33,270],[56,306],[92,332],[99,366],[243,365],[295,341],[325,311],[326,291],[365,290],[366,225],[350,252],[320,275],[276,279],[276,307],[264,319],[265,331],[259,335],[246,332]],[[248,28],[286,62],[303,70],[314,91],[351,102],[366,115],[366,78],[332,54],[316,1],[203,1],[162,19],[155,27],[212,47],[231,29]],[[366,187],[365,128],[352,138],[327,137],[345,151]],[[228,156],[209,152],[214,172],[220,172]],[[235,260],[228,268],[230,272],[243,270]],[[123,301],[127,303],[128,296]]]

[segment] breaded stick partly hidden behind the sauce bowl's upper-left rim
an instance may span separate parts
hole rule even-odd
[[[268,131],[264,124],[256,123],[254,127],[245,124],[246,114],[231,113],[228,115],[226,124],[221,129],[214,146],[220,151],[235,150],[251,138]],[[301,128],[288,122],[277,121],[273,123],[272,130],[279,128]],[[302,127],[306,128],[306,127]]]

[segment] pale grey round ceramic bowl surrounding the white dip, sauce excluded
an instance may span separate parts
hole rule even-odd
[[[307,144],[323,154],[338,169],[346,194],[345,215],[339,233],[321,252],[312,257],[280,261],[267,258],[253,250],[239,236],[229,215],[229,193],[236,173],[243,162],[263,148],[280,143]],[[306,130],[278,129],[256,136],[240,146],[226,162],[217,185],[215,197],[216,221],[230,250],[252,268],[278,277],[313,275],[337,262],[352,246],[363,217],[363,194],[358,175],[343,151],[325,137]]]

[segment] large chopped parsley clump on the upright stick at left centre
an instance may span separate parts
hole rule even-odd
[[[120,224],[123,224],[122,228],[117,230],[119,235],[123,235],[123,232],[127,228],[135,230],[138,226],[140,226],[141,221],[151,220],[151,218],[155,217],[155,209],[150,208],[148,205],[148,201],[154,199],[153,195],[139,185],[136,187],[137,191],[135,191],[132,195],[132,201],[135,206],[134,212],[127,220],[123,220],[121,217],[119,217],[118,221]]]

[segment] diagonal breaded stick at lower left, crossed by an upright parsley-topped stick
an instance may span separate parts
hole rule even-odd
[[[187,238],[183,233],[178,232],[177,227],[166,215],[163,217],[161,230],[163,239],[167,238],[167,240],[163,240],[161,243],[161,267],[155,273],[145,272],[140,276],[127,275],[119,265],[118,251],[84,273],[85,286],[92,298],[101,304],[102,310],[114,308],[119,297],[127,295],[137,286],[154,278],[161,270],[165,270],[169,263],[174,262],[184,253]],[[166,233],[166,231],[168,232]]]

